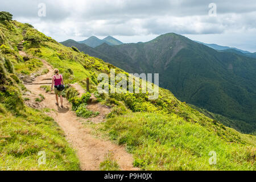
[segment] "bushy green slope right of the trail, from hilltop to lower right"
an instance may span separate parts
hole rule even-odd
[[[110,75],[112,68],[116,74],[127,73],[96,57],[65,47],[34,28],[24,27],[24,24],[18,22],[11,23],[14,24],[13,28],[16,31],[9,31],[5,27],[5,35],[7,32],[10,35],[7,36],[9,41],[5,45],[18,45],[22,40],[22,31],[26,29],[23,47],[26,55],[38,57],[39,61],[46,60],[53,68],[59,68],[65,84],[76,82],[85,88],[86,77],[90,78],[90,93],[79,98],[73,88],[68,88],[65,90],[65,97],[71,102],[72,109],[77,115],[88,114],[86,102],[88,96],[93,93],[97,98],[96,102],[112,107],[106,122],[97,124],[86,121],[83,124],[85,127],[92,127],[96,134],[99,134],[98,137],[107,137],[120,145],[125,144],[126,149],[133,154],[135,167],[148,170],[255,170],[255,136],[238,133],[205,117],[199,111],[177,100],[166,89],[159,89],[157,100],[148,100],[148,94],[142,93],[98,94],[98,74]],[[12,39],[16,38],[16,34],[19,36],[17,41]],[[18,50],[14,50],[13,53],[18,54]],[[24,63],[19,63],[18,58],[11,55],[14,67]],[[30,76],[32,71],[28,69],[27,72],[22,73],[20,70],[19,76]],[[3,91],[1,97],[2,93]],[[16,109],[20,110],[18,106]],[[2,115],[6,117],[6,114]],[[6,119],[2,121],[0,118],[0,121],[9,124]],[[13,135],[16,136],[15,133]],[[41,137],[41,134],[36,137]],[[5,148],[6,143],[1,147]],[[209,163],[209,152],[217,153],[216,165]],[[9,162],[16,160],[10,158]]]

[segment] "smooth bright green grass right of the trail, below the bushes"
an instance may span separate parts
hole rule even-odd
[[[197,123],[176,114],[132,113],[97,126],[134,155],[144,170],[255,170],[253,146],[226,142]],[[209,164],[209,152],[217,164]]]

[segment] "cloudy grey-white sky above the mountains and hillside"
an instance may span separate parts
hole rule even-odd
[[[256,1],[251,0],[1,0],[0,11],[59,42],[111,35],[136,43],[175,32],[256,52]]]

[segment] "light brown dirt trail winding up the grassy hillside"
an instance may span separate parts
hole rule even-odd
[[[41,107],[56,110],[56,112],[52,111],[49,115],[64,130],[68,142],[77,151],[81,169],[90,171],[98,170],[100,163],[104,160],[105,154],[112,151],[122,170],[138,170],[138,168],[134,168],[132,165],[132,155],[128,154],[122,146],[113,144],[109,140],[97,139],[90,134],[90,129],[79,122],[82,118],[76,117],[72,111],[72,106],[65,98],[63,101],[64,108],[62,109],[55,105],[54,95],[45,93],[44,90],[40,89],[41,83],[45,83],[46,80],[52,77],[53,73],[52,67],[46,61],[42,60],[42,62],[44,68],[49,69],[49,73],[36,77],[32,84],[25,85],[31,91],[28,97],[35,98],[39,97],[39,94],[42,94],[45,100],[40,103]]]

